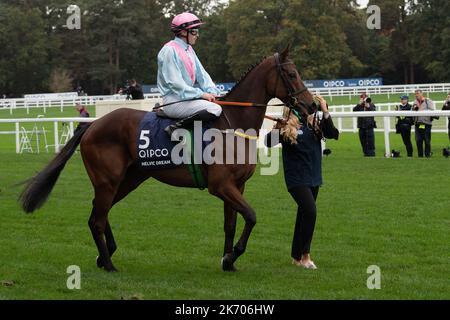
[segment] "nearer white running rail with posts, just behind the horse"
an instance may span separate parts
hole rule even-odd
[[[384,144],[385,144],[385,156],[390,157],[390,141],[389,141],[389,134],[393,130],[391,129],[391,118],[397,117],[397,116],[417,116],[416,111],[366,111],[366,112],[330,112],[333,119],[337,119],[338,123],[342,119],[346,118],[353,118],[354,121],[356,121],[356,118],[358,117],[382,117],[383,118],[383,131],[384,131]],[[439,117],[450,117],[450,111],[422,111],[420,112],[421,116],[439,116]],[[53,123],[54,132],[53,132],[53,140],[54,144],[51,145],[54,147],[55,152],[59,152],[60,147],[62,145],[60,137],[59,137],[59,130],[58,130],[58,123],[68,123],[69,128],[66,132],[66,138],[70,138],[73,135],[73,123],[74,122],[93,122],[96,118],[36,118],[36,119],[0,119],[0,123],[14,123],[15,124],[15,138],[16,138],[16,153],[21,153],[23,151],[23,143],[27,143],[28,137],[24,140],[23,135],[27,134],[27,132],[24,132],[24,130],[21,130],[20,124],[21,123],[42,123],[42,122],[50,122]],[[336,121],[336,120],[335,120]],[[44,135],[46,130],[44,129]],[[42,133],[42,132],[41,132]],[[38,135],[39,132],[36,131],[36,134]],[[46,139],[46,138],[45,138]],[[66,139],[66,140],[67,140]],[[263,137],[260,137],[259,145],[262,146],[262,139]],[[46,144],[46,149],[48,151],[48,144]]]

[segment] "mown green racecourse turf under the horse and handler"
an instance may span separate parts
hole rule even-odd
[[[319,269],[290,259],[296,206],[280,171],[247,183],[258,223],[237,273],[220,268],[223,211],[207,191],[148,180],[110,213],[120,270],[97,269],[87,220],[92,189],[80,154],[70,160],[48,201],[26,215],[13,185],[51,154],[6,151],[0,136],[0,299],[449,299],[450,159],[445,134],[433,134],[431,159],[361,155],[357,135],[328,141],[312,256]],[[398,135],[391,145],[405,153]],[[8,149],[9,150],[9,149]],[[242,230],[238,218],[237,237]],[[68,290],[66,269],[81,268],[81,290]],[[366,287],[370,265],[381,290]]]

